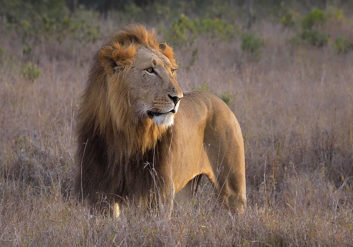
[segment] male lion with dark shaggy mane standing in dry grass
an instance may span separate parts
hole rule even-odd
[[[173,205],[204,174],[234,211],[246,205],[244,144],[229,107],[182,92],[171,47],[130,25],[94,55],[77,122],[76,193],[94,205]],[[206,72],[205,72],[206,73]],[[163,204],[163,203],[162,203]]]

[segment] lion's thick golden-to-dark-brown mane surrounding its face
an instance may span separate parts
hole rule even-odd
[[[149,118],[139,119],[130,107],[132,92],[124,82],[128,80],[125,75],[130,69],[136,50],[141,46],[157,49],[176,67],[173,49],[165,43],[159,45],[154,30],[147,31],[142,25],[129,25],[113,33],[104,46],[111,49],[102,52],[98,50],[94,55],[77,117],[76,163],[85,163],[87,170],[84,169],[86,174],[83,176],[89,177],[88,173],[93,172],[101,175],[100,179],[103,181],[99,183],[88,179],[82,184],[77,179],[76,190],[79,194],[83,193],[84,197],[93,190],[127,195],[126,186],[132,187],[136,176],[132,163],[148,156],[146,151],[153,148],[166,132],[166,128],[158,127]],[[102,56],[113,57],[119,61],[116,62],[117,66],[123,67],[115,77],[116,83],[108,85],[106,73],[113,71],[104,71],[104,64],[99,60]],[[104,163],[107,167],[98,165]],[[136,185],[135,193],[146,194],[142,188],[143,186]],[[96,196],[90,201],[97,201]]]

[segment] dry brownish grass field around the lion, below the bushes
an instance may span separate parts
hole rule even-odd
[[[205,180],[194,206],[176,207],[171,219],[127,207],[117,220],[92,216],[71,197],[74,116],[99,43],[49,42],[26,56],[13,34],[2,36],[0,245],[352,245],[353,54],[292,47],[280,27],[256,28],[266,40],[259,61],[237,41],[199,39],[199,58],[186,69],[190,50],[178,50],[183,90],[207,83],[232,96],[247,210],[224,210]],[[34,82],[20,73],[28,60],[41,72]]]

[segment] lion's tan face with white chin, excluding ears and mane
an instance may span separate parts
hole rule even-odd
[[[173,124],[183,97],[175,70],[160,51],[140,47],[127,73],[129,87],[135,92],[131,103],[136,113],[151,118],[158,126]]]

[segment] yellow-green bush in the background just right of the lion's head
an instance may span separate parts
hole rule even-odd
[[[235,35],[234,27],[219,18],[190,20],[181,14],[167,31],[165,38],[176,45],[191,45],[199,35],[228,40]]]

